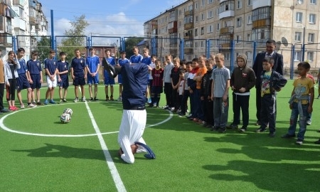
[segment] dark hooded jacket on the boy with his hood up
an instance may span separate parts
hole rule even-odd
[[[242,87],[245,87],[245,92],[250,92],[250,89],[255,87],[255,72],[252,70],[252,68],[247,66],[246,55],[239,55],[238,58],[245,60],[245,65],[242,68],[240,68],[238,65],[238,67],[233,70],[230,79],[230,87],[235,87],[235,90],[233,90],[235,93],[240,93],[239,90]]]

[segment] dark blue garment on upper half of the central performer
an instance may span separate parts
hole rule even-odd
[[[149,76],[148,66],[124,63],[120,73],[123,82],[123,109],[129,110],[132,107],[144,107],[146,102],[146,80]]]

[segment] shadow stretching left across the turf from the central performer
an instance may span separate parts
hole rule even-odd
[[[97,159],[106,161],[103,150],[99,149],[82,149],[71,146],[63,146],[56,144],[46,144],[36,149],[11,150],[16,152],[26,152],[32,157],[63,157],[66,159]],[[118,150],[109,150],[114,163],[124,163],[118,155]],[[145,159],[145,158],[144,158]]]

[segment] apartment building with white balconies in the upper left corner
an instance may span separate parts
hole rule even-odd
[[[22,47],[26,58],[41,36],[47,36],[48,21],[36,0],[0,0],[0,49],[2,55]]]

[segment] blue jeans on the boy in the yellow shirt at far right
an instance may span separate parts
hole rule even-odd
[[[308,107],[309,104],[302,105],[303,114],[299,114],[298,103],[292,103],[291,117],[290,117],[290,127],[288,130],[288,134],[294,135],[297,129],[297,119],[299,116],[299,132],[297,135],[298,139],[304,140],[304,133],[306,132],[306,119],[308,117]]]

